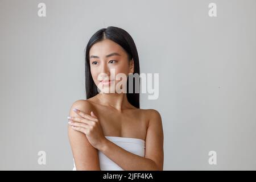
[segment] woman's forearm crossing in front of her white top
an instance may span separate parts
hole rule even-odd
[[[159,170],[153,160],[128,152],[108,139],[102,142],[101,146],[98,147],[98,150],[124,170]]]

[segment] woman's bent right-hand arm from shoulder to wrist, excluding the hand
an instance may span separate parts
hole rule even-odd
[[[150,121],[146,135],[145,156],[141,157],[124,150],[108,139],[98,148],[109,159],[117,163],[124,170],[163,170],[163,127],[162,119],[158,111],[154,109],[150,112]]]

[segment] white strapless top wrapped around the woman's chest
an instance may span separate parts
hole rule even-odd
[[[106,139],[115,143],[117,146],[122,147],[128,152],[144,157],[145,154],[145,141],[138,138],[127,138],[127,137],[109,137],[105,136]],[[123,171],[113,160],[110,160],[105,154],[98,150],[98,158],[100,160],[101,171]],[[73,171],[76,171],[74,162]]]

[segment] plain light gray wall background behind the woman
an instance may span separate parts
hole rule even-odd
[[[162,115],[164,170],[255,170],[255,7],[0,0],[0,169],[72,170],[67,116],[85,99],[83,51],[98,29],[117,26],[133,37],[141,72],[159,73],[158,100],[141,94],[141,107]],[[211,150],[217,165],[208,163]]]

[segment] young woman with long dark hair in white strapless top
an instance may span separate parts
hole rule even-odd
[[[128,91],[135,73],[140,74],[138,52],[125,30],[102,28],[90,38],[87,99],[75,101],[68,117],[73,170],[163,170],[162,119],[154,109],[140,109],[139,93]],[[126,84],[119,88],[127,92],[110,92],[121,81]]]

